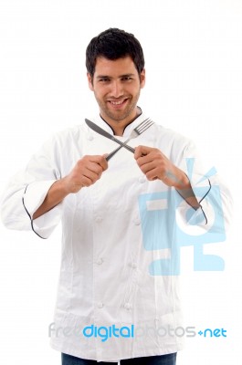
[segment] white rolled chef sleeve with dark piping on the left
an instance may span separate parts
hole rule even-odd
[[[33,230],[41,238],[47,238],[58,225],[62,203],[33,219],[50,186],[61,177],[57,156],[57,141],[52,137],[32,156],[25,171],[11,178],[1,199],[2,221],[7,228]]]

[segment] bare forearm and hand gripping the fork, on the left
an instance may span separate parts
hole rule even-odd
[[[80,159],[66,177],[50,186],[44,202],[33,214],[33,219],[50,211],[69,193],[78,193],[81,188],[96,183],[102,172],[108,169],[105,156],[84,156]]]

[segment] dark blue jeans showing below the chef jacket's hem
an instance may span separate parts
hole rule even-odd
[[[61,354],[62,365],[117,365],[117,362],[97,362],[96,360],[79,359],[75,356]],[[168,355],[149,356],[147,358],[134,358],[121,360],[121,365],[175,365],[176,352]]]

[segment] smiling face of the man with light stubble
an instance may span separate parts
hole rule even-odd
[[[93,79],[88,74],[89,89],[94,91],[101,117],[115,126],[125,127],[137,115],[137,101],[144,86],[144,70],[139,76],[131,57],[114,61],[97,58]]]

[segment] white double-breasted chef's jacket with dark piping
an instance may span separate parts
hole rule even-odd
[[[141,114],[126,127],[123,136],[117,138],[125,141],[132,129],[145,118]],[[113,134],[100,116],[91,120]],[[194,159],[194,172],[189,177],[192,186],[199,185],[197,182],[204,172],[195,146],[180,134],[153,124],[129,145],[158,148],[184,172],[186,159]],[[122,148],[110,159],[108,170],[103,172],[97,183],[82,188],[79,193],[69,194],[49,212],[32,219],[50,186],[66,176],[82,156],[102,155],[117,146],[116,142],[90,130],[85,123],[60,131],[32,157],[26,171],[16,175],[2,201],[2,219],[10,229],[33,229],[40,237],[47,238],[62,222],[58,298],[50,341],[54,349],[89,360],[118,361],[172,353],[183,348],[183,337],[179,335],[183,326],[179,275],[172,271],[171,275],[159,275],[159,271],[150,269],[153,261],[158,262],[163,255],[159,240],[169,238],[168,251],[177,244],[177,224],[174,221],[171,229],[171,224],[154,219],[147,226],[145,210],[141,214],[139,205],[142,196],[152,197],[155,193],[163,193],[167,200],[171,194],[174,198],[181,197],[174,188],[161,181],[149,182],[131,151]],[[201,183],[206,187],[207,196],[213,194],[216,176],[209,180],[210,183],[208,179]],[[226,220],[226,200],[229,198],[221,185],[220,193],[223,201],[220,214]],[[199,196],[197,199],[201,201],[202,198]],[[216,194],[213,202],[219,206]],[[150,214],[148,205],[147,217]],[[194,211],[194,214],[200,213],[197,224],[205,227],[209,224],[211,203],[204,199],[201,206],[200,212]],[[159,206],[159,199],[151,204],[152,211],[164,208],[165,204]],[[176,209],[184,225],[189,225],[185,217],[188,208],[189,205],[183,202]],[[204,219],[201,220],[202,209]],[[158,245],[144,245],[143,229],[146,237],[147,229],[153,236],[153,232],[159,232],[155,224],[158,228],[159,224],[162,226],[162,235],[157,237]],[[127,328],[134,328],[134,334],[118,337],[110,333],[108,339],[102,340],[97,333],[90,336],[91,326],[102,327],[102,333],[105,327],[123,327],[126,328],[123,334],[129,333]],[[89,327],[89,332],[86,332],[89,337],[82,332],[86,327]],[[180,332],[178,336],[172,336],[171,330],[176,328],[180,328]],[[165,335],[166,330],[170,334]]]

